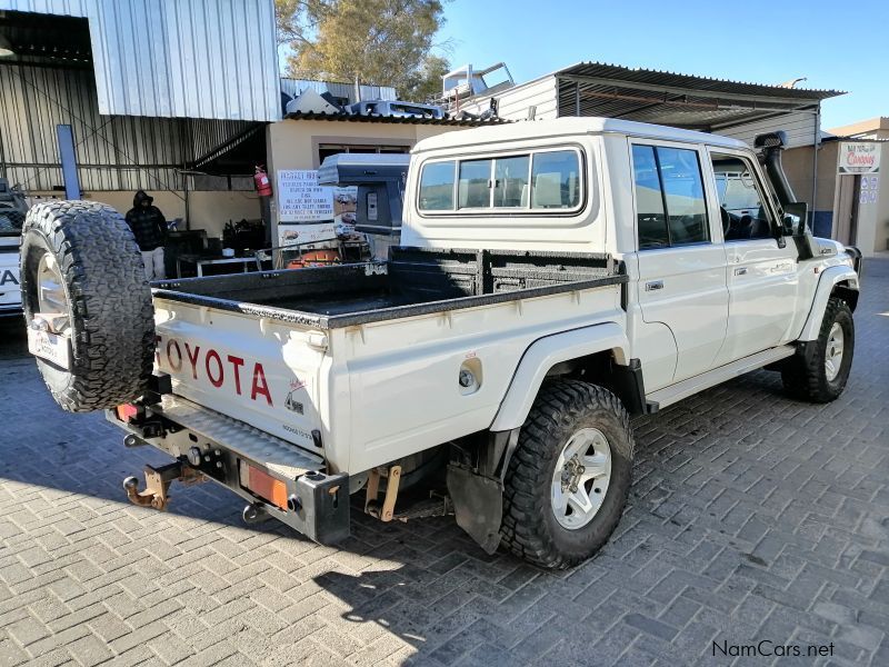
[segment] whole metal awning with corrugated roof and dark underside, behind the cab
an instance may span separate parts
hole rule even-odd
[[[559,116],[606,116],[708,132],[795,111],[815,112],[821,100],[845,94],[601,62],[580,62],[553,76]]]

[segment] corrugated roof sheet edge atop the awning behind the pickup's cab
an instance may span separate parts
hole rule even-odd
[[[840,90],[816,90],[809,88],[783,88],[769,83],[750,83],[746,81],[731,81],[729,79],[715,79],[697,74],[682,74],[663,70],[629,68],[607,62],[578,62],[557,72],[553,76],[601,78],[609,81],[627,81],[630,83],[650,83],[660,87],[692,89],[708,92],[722,92],[727,94],[750,94],[758,97],[775,97],[788,100],[823,100],[840,94]]]

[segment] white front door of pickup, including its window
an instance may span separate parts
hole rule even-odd
[[[758,166],[742,151],[712,149],[709,155],[728,259],[729,322],[717,358],[721,366],[789,341],[800,268],[796,245],[778,241],[777,215]]]

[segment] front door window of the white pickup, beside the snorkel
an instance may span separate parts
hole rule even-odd
[[[756,171],[746,158],[711,153],[722,235],[727,241],[773,237]]]

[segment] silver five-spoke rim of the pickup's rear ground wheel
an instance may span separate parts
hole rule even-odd
[[[611,447],[598,428],[582,428],[566,442],[556,461],[550,507],[569,530],[587,526],[599,512],[611,480]]]

